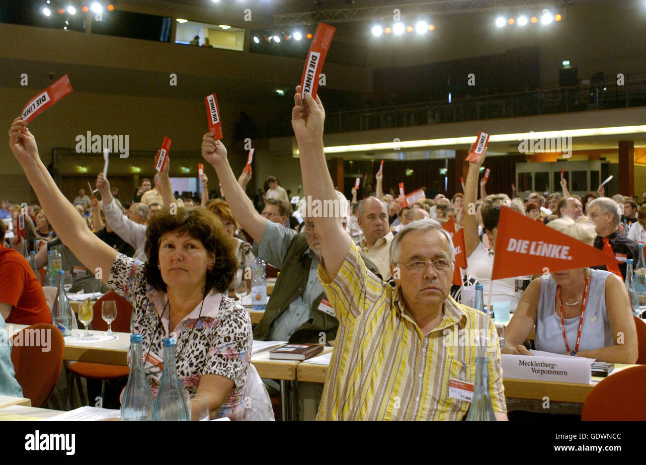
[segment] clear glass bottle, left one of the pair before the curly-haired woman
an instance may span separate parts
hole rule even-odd
[[[141,335],[130,335],[130,375],[123,391],[121,421],[152,420],[154,399],[143,369]]]

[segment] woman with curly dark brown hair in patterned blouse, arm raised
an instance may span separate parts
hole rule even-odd
[[[211,418],[242,419],[251,358],[249,313],[226,295],[237,269],[233,240],[207,209],[165,210],[149,223],[147,263],[117,253],[97,238],[56,187],[36,139],[16,118],[9,145],[50,223],[81,262],[132,304],[132,328],[143,337],[152,392],[161,380],[162,339],[175,333],[176,366],[187,393],[207,396]],[[223,294],[224,293],[224,294]]]

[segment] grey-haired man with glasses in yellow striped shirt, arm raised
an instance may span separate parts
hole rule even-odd
[[[336,198],[323,150],[325,112],[320,99],[294,97],[303,187],[311,201]],[[392,289],[370,273],[339,218],[313,218],[322,248],[318,274],[339,319],[335,350],[318,419],[459,420],[469,402],[449,394],[450,380],[474,383],[474,335],[492,341],[489,391],[495,416],[506,420],[500,347],[484,313],[449,296],[453,276],[450,236],[439,223],[402,228],[390,249]],[[459,397],[459,396],[455,396]]]

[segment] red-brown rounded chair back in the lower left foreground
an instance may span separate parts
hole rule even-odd
[[[47,352],[43,350],[47,349],[44,341],[50,344]],[[32,407],[45,406],[61,373],[65,351],[61,331],[56,326],[39,323],[18,331],[11,343],[11,361],[23,396],[32,400]]]

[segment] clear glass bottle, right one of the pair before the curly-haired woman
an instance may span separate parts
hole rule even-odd
[[[153,420],[189,420],[189,409],[182,395],[180,378],[177,377],[175,365],[175,338],[164,338],[163,372],[161,386],[155,406],[152,409]]]

